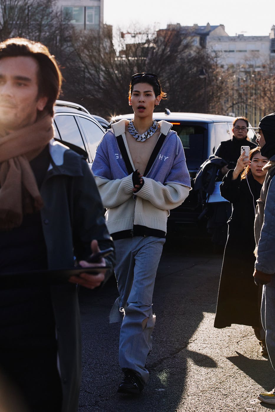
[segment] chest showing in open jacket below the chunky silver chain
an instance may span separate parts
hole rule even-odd
[[[157,130],[149,139],[145,140],[144,142],[137,142],[128,131],[126,131],[125,133],[128,148],[135,169],[137,169],[142,175],[145,172],[149,158],[159,138],[159,133],[159,130]]]

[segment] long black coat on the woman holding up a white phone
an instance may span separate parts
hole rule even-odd
[[[220,193],[232,203],[232,215],[228,220],[228,239],[220,275],[215,328],[225,328],[232,323],[260,326],[258,310],[258,286],[254,272],[254,219],[256,200],[262,185],[250,174],[241,180],[232,180],[233,170],[223,178]],[[247,180],[251,189],[251,194]],[[253,199],[254,197],[254,199]]]

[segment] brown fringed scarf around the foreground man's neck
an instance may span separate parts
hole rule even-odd
[[[43,207],[29,161],[53,137],[52,117],[42,113],[31,126],[1,134],[0,129],[0,230],[9,230],[21,225],[24,214]]]

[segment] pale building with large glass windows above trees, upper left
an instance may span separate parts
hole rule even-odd
[[[99,30],[103,26],[103,3],[104,0],[57,0],[57,6],[81,30]]]

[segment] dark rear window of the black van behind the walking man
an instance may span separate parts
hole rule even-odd
[[[172,127],[177,132],[185,152],[186,159],[204,160],[207,154],[207,129],[197,124],[173,124]]]

